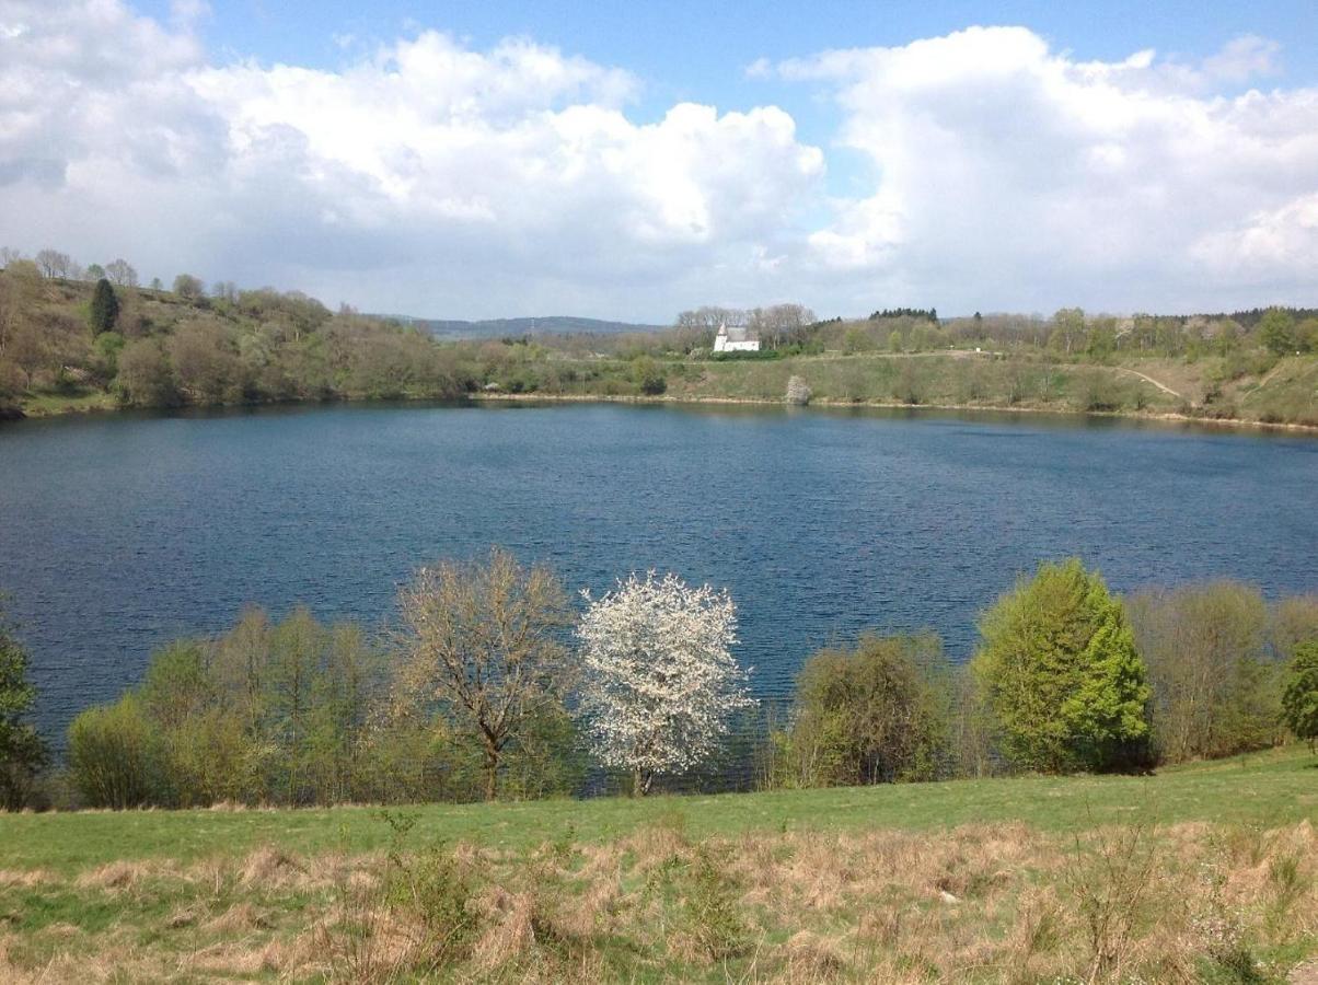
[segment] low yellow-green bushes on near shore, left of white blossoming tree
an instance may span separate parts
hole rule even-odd
[[[355,624],[252,610],[157,651],[138,687],[79,715],[74,787],[116,809],[478,799],[481,737],[434,702],[399,705],[391,674]],[[500,759],[517,799],[577,790],[585,769],[561,703],[527,714]]]

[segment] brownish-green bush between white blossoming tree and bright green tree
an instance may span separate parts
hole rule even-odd
[[[801,669],[792,726],[776,737],[778,786],[933,780],[952,759],[950,669],[937,635],[866,635]]]

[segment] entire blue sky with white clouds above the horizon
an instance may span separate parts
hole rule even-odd
[[[0,246],[451,319],[1318,306],[1318,17],[0,0]]]

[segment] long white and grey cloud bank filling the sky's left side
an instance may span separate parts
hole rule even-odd
[[[822,173],[780,109],[637,122],[629,72],[530,40],[216,66],[203,12],[0,4],[0,234],[376,308],[635,316],[754,275]]]

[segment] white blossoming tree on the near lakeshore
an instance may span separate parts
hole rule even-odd
[[[645,795],[655,777],[705,760],[731,714],[754,705],[728,651],[737,606],[726,591],[654,572],[600,599],[583,594],[580,712],[600,761],[630,770],[633,791]]]

